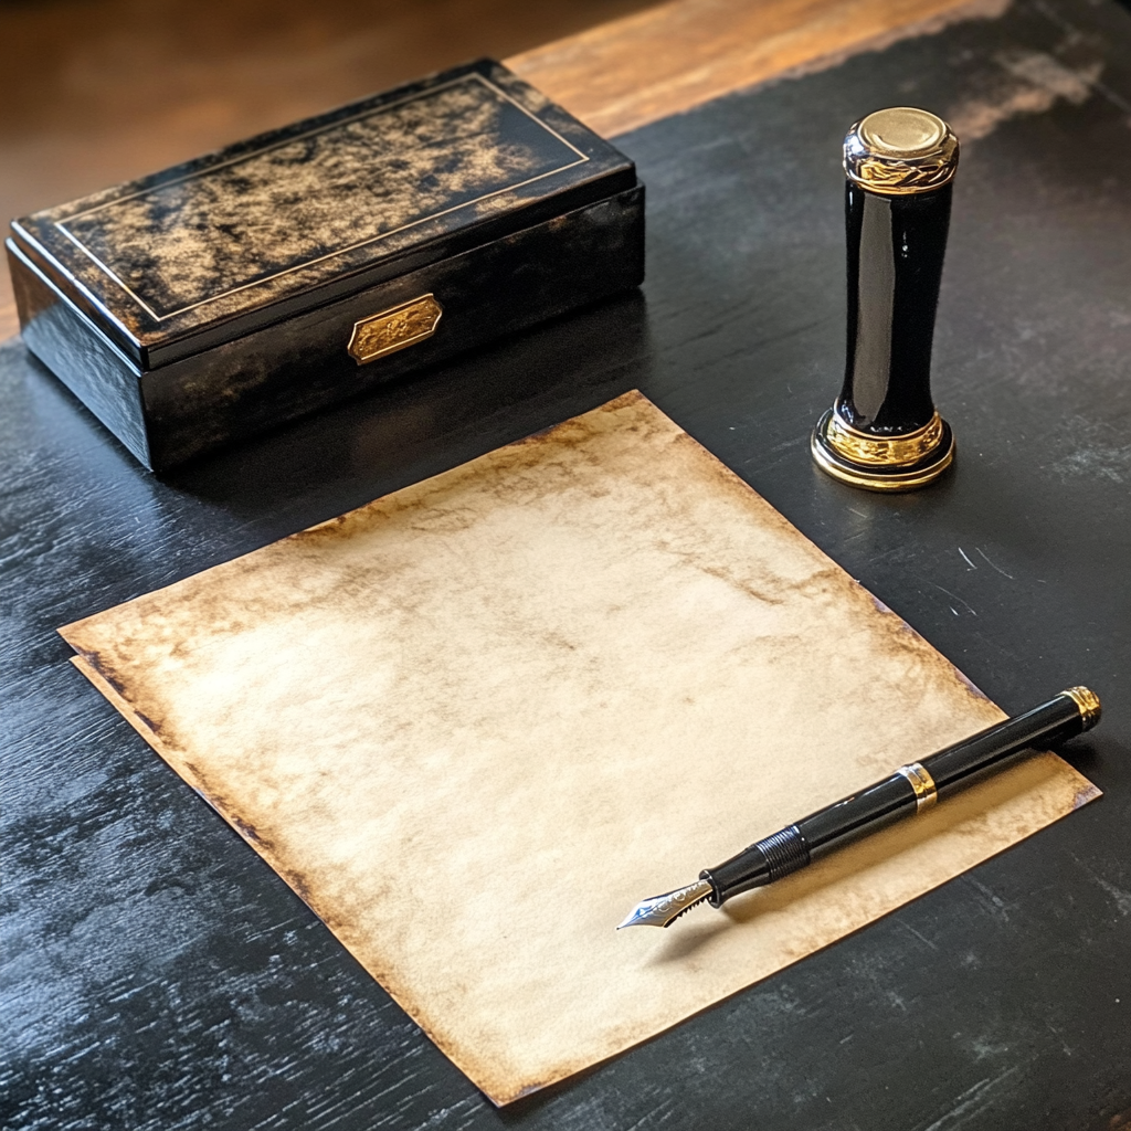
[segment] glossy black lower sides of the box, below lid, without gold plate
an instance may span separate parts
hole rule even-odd
[[[24,343],[146,467],[165,470],[506,334],[638,286],[644,187],[411,271],[150,372],[126,357],[9,243]],[[357,365],[354,323],[422,294],[435,334]],[[536,380],[537,378],[533,378]]]

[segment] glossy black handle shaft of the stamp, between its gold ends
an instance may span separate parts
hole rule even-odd
[[[914,432],[934,415],[931,346],[953,182],[886,197],[847,181],[848,343],[837,400],[853,428]]]

